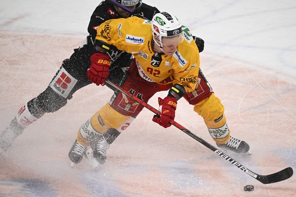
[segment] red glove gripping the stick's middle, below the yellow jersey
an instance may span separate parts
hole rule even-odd
[[[169,119],[174,120],[175,110],[177,107],[177,100],[174,97],[166,96],[163,100],[158,97],[158,103],[160,107],[160,116],[155,115],[153,121],[167,128],[171,125]]]

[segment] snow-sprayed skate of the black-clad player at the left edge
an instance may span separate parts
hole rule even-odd
[[[16,118],[14,118],[9,127],[5,128],[0,134],[0,151],[7,151],[16,137],[22,134],[22,132],[23,127],[20,126]]]

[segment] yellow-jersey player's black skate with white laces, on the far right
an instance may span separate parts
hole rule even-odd
[[[225,144],[216,144],[220,148],[225,148],[236,153],[251,154],[249,151],[250,146],[245,141],[235,139],[233,137],[230,137],[230,139]]]

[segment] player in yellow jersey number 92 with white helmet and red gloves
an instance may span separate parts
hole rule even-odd
[[[90,81],[97,85],[104,85],[109,75],[110,59],[106,53],[111,45],[134,56],[122,81],[123,89],[144,102],[156,92],[168,90],[166,97],[158,98],[161,113],[153,117],[154,122],[169,127],[177,101],[184,97],[203,117],[217,146],[236,153],[249,153],[250,147],[245,141],[230,136],[224,107],[199,69],[198,48],[189,29],[175,16],[162,12],[152,21],[130,17],[102,23],[87,72]],[[93,156],[104,163],[109,143],[103,134],[110,129],[122,132],[142,109],[143,106],[128,96],[115,92],[110,102],[81,126],[76,140],[84,149],[91,146]],[[79,149],[74,145],[69,156]]]

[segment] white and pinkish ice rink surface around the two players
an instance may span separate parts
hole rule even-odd
[[[45,90],[87,34],[100,1],[0,2],[0,129]],[[296,2],[291,0],[144,1],[174,13],[205,41],[201,69],[225,106],[232,136],[252,155],[226,152],[255,173],[296,170]],[[93,170],[68,152],[80,125],[112,91],[89,85],[61,110],[24,130],[0,157],[0,196],[296,196],[296,177],[264,185],[143,110]],[[149,102],[158,107],[156,94]],[[175,121],[215,145],[185,100]],[[244,191],[252,184],[254,191]]]

